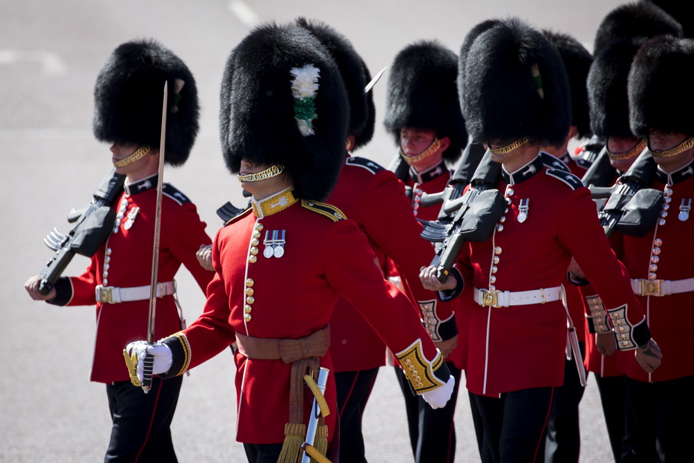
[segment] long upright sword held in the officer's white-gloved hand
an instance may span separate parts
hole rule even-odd
[[[159,176],[156,187],[156,216],[154,218],[154,250],[152,251],[152,277],[149,285],[149,315],[147,318],[147,343],[154,344],[154,313],[156,311],[156,284],[159,273],[159,232],[161,230],[161,193],[164,186],[164,151],[166,143],[166,106],[168,81],[164,82],[164,100],[161,111],[161,137],[159,139]],[[142,373],[142,391],[148,393],[152,387],[152,370],[154,369],[154,356],[144,356],[144,371]]]

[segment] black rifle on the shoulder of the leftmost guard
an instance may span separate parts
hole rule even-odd
[[[67,218],[68,222],[76,225],[63,235],[58,229],[43,239],[44,243],[56,251],[40,273],[39,293],[46,295],[63,273],[67,264],[72,261],[74,254],[92,257],[101,243],[104,243],[113,229],[116,213],[110,205],[120,195],[125,175],[115,173],[115,169],[101,180],[99,188],[94,191],[92,202],[85,209],[72,209]]]

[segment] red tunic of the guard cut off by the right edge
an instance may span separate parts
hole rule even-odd
[[[653,225],[643,238],[622,235],[623,261],[632,278],[681,280],[694,277],[694,217],[680,220],[681,206],[694,201],[694,163],[686,165],[668,178],[658,170],[650,188],[663,191],[669,183],[668,215]],[[691,213],[690,213],[691,214]],[[684,216],[682,216],[684,218]],[[660,245],[659,245],[660,243]],[[653,251],[659,248],[658,254]],[[656,268],[650,268],[655,265]],[[689,327],[694,324],[694,292],[666,296],[639,296],[645,309],[653,339],[663,352],[663,363],[654,373],[645,373],[633,356],[620,355],[618,366],[639,381],[656,382],[694,375]]]

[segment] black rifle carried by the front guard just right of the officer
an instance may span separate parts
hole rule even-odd
[[[453,268],[465,241],[486,241],[497,221],[506,209],[504,195],[494,186],[501,174],[501,164],[491,160],[487,150],[472,175],[470,188],[465,194],[453,198],[463,191],[461,184],[452,188],[452,195],[444,202],[439,219],[426,222],[420,236],[434,243],[441,243],[431,261],[438,268],[440,282],[445,282]]]

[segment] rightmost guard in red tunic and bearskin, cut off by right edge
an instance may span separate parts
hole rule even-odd
[[[647,138],[658,165],[650,191],[659,199],[654,208],[659,216],[648,220],[644,213],[645,234],[622,229],[623,261],[667,361],[655,372],[644,372],[633,359],[618,359],[632,412],[623,462],[691,457],[694,362],[685,333],[694,323],[693,72],[694,40],[661,35],[643,44],[629,73],[631,129]]]

